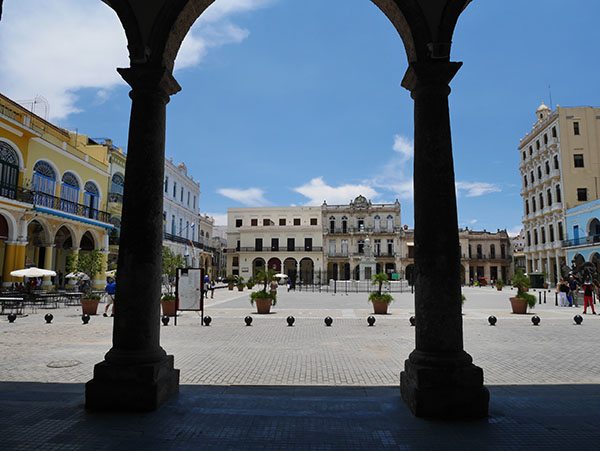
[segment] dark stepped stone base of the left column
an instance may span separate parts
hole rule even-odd
[[[85,408],[96,411],[140,412],[156,410],[179,392],[179,370],[173,356],[156,363],[94,367],[94,378],[85,384]]]

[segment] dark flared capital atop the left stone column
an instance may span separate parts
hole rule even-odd
[[[164,67],[147,64],[118,68],[117,72],[131,86],[131,97],[135,95],[160,95],[165,102],[169,97],[181,91],[181,86],[173,77],[173,73]]]

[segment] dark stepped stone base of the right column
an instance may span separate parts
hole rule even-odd
[[[483,385],[483,370],[443,360],[440,366],[405,361],[400,393],[412,413],[447,420],[487,417],[490,393]]]

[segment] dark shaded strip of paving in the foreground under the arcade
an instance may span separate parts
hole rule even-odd
[[[397,387],[182,386],[149,414],[92,414],[83,384],[0,383],[3,449],[598,449],[600,385],[490,386],[491,415],[413,417]]]

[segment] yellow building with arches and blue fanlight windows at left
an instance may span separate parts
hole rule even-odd
[[[0,273],[53,269],[64,284],[69,254],[100,250],[104,266],[109,154],[85,135],[61,129],[0,94]],[[51,285],[50,279],[44,280]],[[103,271],[94,277],[103,286]]]

